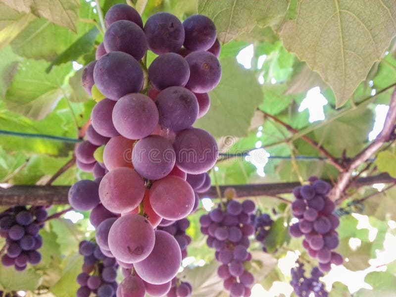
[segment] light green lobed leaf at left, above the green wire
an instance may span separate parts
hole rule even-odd
[[[46,66],[45,62],[35,60],[20,64],[5,96],[9,110],[41,120],[56,107],[65,95],[62,86],[71,64],[57,66],[50,74],[45,73]]]

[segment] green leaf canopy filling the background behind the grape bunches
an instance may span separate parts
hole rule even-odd
[[[98,3],[105,13],[117,2],[124,1]],[[142,3],[146,1],[132,1],[134,5]],[[79,68],[95,58],[103,38],[97,5],[91,0],[0,1],[1,131],[78,138],[95,103],[80,86]],[[395,0],[148,0],[144,21],[158,11],[171,12],[182,20],[194,13],[211,17],[223,44],[222,80],[210,94],[210,111],[196,126],[212,133],[223,153],[265,148],[278,157],[265,164],[265,176],[248,159],[221,161],[215,172],[219,184],[303,181],[310,175],[334,180],[339,172],[326,160],[298,158],[319,157],[301,136],[345,160],[369,144],[376,107],[389,104],[391,87],[396,84]],[[236,56],[249,45],[253,54],[246,69]],[[310,112],[320,109],[300,111],[299,107],[307,104],[302,102],[314,87],[320,87],[328,103],[322,104],[325,118],[311,123]],[[291,134],[264,113],[289,124],[297,133]],[[42,185],[71,158],[73,148],[72,142],[1,135],[0,181]],[[364,174],[388,172],[396,177],[395,168],[395,146],[391,145]],[[72,167],[53,185],[71,185],[84,178],[92,176]],[[350,296],[350,292],[356,297],[394,296],[396,262],[392,261],[396,255],[381,256],[396,242],[394,192],[378,194],[377,189],[363,187],[351,191],[349,200],[378,195],[359,207],[347,205],[347,201],[341,205],[349,211],[342,217],[338,251],[348,261],[338,278],[337,273],[328,278],[329,286],[336,281],[330,296]],[[291,199],[290,195],[282,197]],[[257,251],[252,264],[257,283],[266,290],[272,287],[268,293],[272,296],[276,282],[287,283],[290,278],[290,269],[282,269],[282,261],[302,250],[301,243],[287,233],[287,203],[274,197],[254,199],[275,220],[267,239],[270,253],[253,245]],[[51,211],[61,209],[63,206],[57,206]],[[222,296],[211,261],[213,251],[199,232],[198,218],[203,211],[190,218],[188,232],[193,244],[189,255],[194,258],[182,274],[192,283],[193,296]],[[47,224],[41,232],[43,261],[22,273],[0,267],[0,289],[24,290],[27,296],[72,296],[82,262],[78,242],[93,236],[92,230],[87,231],[88,214],[83,216],[77,223],[62,218]],[[351,239],[358,245],[351,245]],[[305,253],[301,257],[308,258]],[[360,282],[349,287],[349,292],[341,282],[347,282],[346,275],[352,274],[349,278],[364,279],[366,285]],[[370,286],[372,290],[368,290]],[[283,288],[284,294],[290,293],[285,284]]]

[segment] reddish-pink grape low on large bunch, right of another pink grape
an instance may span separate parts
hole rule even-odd
[[[179,220],[190,214],[195,201],[191,186],[177,176],[166,176],[150,189],[152,209],[167,220]]]

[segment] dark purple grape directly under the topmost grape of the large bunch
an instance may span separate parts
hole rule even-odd
[[[145,32],[137,24],[127,20],[116,21],[107,28],[103,45],[106,52],[126,52],[137,60],[143,58],[147,51]]]

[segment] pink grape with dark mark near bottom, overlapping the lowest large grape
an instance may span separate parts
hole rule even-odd
[[[154,230],[143,216],[128,214],[118,218],[108,234],[111,253],[119,260],[135,263],[145,259],[154,247]]]

